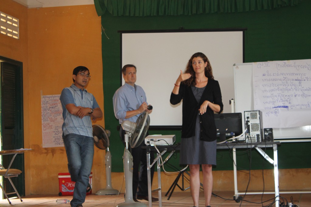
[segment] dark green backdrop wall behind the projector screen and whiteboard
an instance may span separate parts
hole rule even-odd
[[[245,62],[310,59],[310,9],[311,1],[305,0],[300,2],[297,7],[278,10],[194,16],[119,17],[106,12],[102,16],[102,26],[109,38],[103,32],[104,118],[105,128],[111,131],[112,171],[123,171],[122,156],[124,151],[117,131],[119,123],[114,117],[112,105],[114,92],[120,87],[120,33],[118,30],[177,30],[180,27],[184,29],[247,28],[245,32]],[[133,52],[139,49],[133,48]],[[232,52],[234,53],[234,51]],[[188,60],[180,61],[184,61],[186,64]],[[156,62],[150,64],[156,64]],[[213,69],[217,70],[217,68]],[[217,79],[217,77],[215,78]],[[172,83],[174,81],[172,80]],[[150,130],[149,133],[175,134],[177,142],[180,141],[181,135],[180,131],[174,130]],[[311,143],[282,143],[278,148],[279,168],[311,168],[311,163],[306,162],[311,157],[310,148]],[[248,153],[249,151],[238,150],[239,168],[249,168]],[[250,154],[252,155],[252,169],[272,169],[272,165],[262,161],[263,158],[256,150],[252,150]],[[273,158],[271,149],[267,149],[267,154]],[[218,150],[217,167],[214,170],[232,170],[231,156],[232,154],[228,150]],[[178,153],[171,157],[169,163],[181,169],[178,164]],[[169,170],[168,166],[165,168]]]

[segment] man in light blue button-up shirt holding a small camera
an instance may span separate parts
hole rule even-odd
[[[113,97],[114,115],[119,119],[121,124],[124,120],[136,122],[137,118],[143,112],[151,113],[152,110],[148,109],[145,91],[139,85],[136,85],[136,66],[125,65],[122,68],[122,74],[125,84],[122,85]],[[120,128],[120,137],[124,143],[124,130]],[[146,149],[141,146],[145,145],[144,142],[136,148],[131,149],[133,157],[133,200],[148,200],[148,180],[147,180],[147,159]],[[151,160],[154,159],[154,154],[150,155]],[[140,173],[138,173],[140,165]],[[154,173],[154,168],[150,169],[151,183]],[[138,188],[138,191],[137,191]],[[152,197],[152,202],[158,201],[157,198]]]

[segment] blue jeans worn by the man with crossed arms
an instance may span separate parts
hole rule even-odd
[[[76,182],[70,205],[76,207],[85,201],[93,164],[94,140],[89,136],[68,134],[63,136],[63,141],[71,180]]]

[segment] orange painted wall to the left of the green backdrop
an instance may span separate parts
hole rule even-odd
[[[64,147],[42,148],[41,94],[60,94],[72,70],[90,69],[87,90],[104,112],[101,24],[94,5],[32,8],[12,0],[0,10],[20,21],[20,39],[0,34],[0,55],[23,62],[25,186],[29,194],[57,194],[58,173],[68,172]],[[104,120],[94,122],[104,127]],[[104,150],[95,147],[93,192],[105,187]]]

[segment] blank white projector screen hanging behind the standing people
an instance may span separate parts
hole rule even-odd
[[[146,92],[153,106],[151,126],[181,126],[182,103],[171,105],[170,94],[180,70],[196,52],[209,59],[215,80],[219,81],[223,113],[231,113],[234,98],[232,65],[243,62],[243,31],[122,33],[122,66],[137,67],[136,85]],[[120,74],[122,76],[122,74]],[[124,79],[122,78],[122,85]]]

